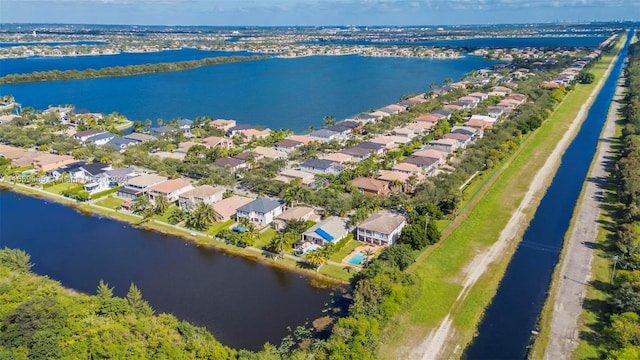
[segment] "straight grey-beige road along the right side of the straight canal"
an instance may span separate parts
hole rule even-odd
[[[618,86],[600,138],[600,147],[593,168],[587,177],[579,213],[571,237],[567,239],[567,253],[560,270],[562,276],[558,279],[560,286],[553,308],[551,334],[545,350],[545,359],[570,359],[578,346],[578,319],[582,312],[585,287],[591,277],[593,245],[598,234],[603,186],[608,175],[606,159],[611,156],[611,140],[615,132],[621,94],[622,87]]]

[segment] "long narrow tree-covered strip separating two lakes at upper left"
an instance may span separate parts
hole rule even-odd
[[[29,74],[10,74],[0,77],[0,84],[19,84],[38,81],[56,81],[56,80],[76,80],[76,79],[92,79],[101,77],[129,76],[152,74],[159,72],[180,71],[195,69],[202,66],[227,64],[242,61],[264,60],[269,56],[224,56],[215,58],[205,58],[201,60],[188,60],[159,64],[143,64],[129,66],[114,66],[103,69],[86,69],[86,70],[50,70],[50,71],[34,71]]]

